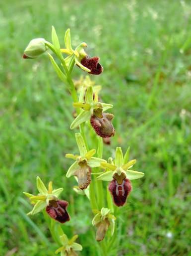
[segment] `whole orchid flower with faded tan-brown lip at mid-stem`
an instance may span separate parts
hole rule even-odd
[[[91,168],[99,167],[105,160],[93,157],[95,149],[87,152],[84,139],[81,133],[75,133],[76,142],[79,148],[79,155],[66,154],[65,157],[74,159],[75,162],[69,167],[66,177],[74,175],[77,177],[80,189],[86,189],[91,182]],[[106,161],[105,161],[106,162]]]

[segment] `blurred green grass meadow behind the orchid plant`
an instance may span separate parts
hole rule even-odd
[[[36,193],[35,178],[64,187],[71,222],[81,233],[82,255],[97,256],[86,200],[72,191],[64,158],[76,152],[71,99],[47,56],[23,60],[34,37],[88,44],[104,73],[91,78],[114,104],[115,147],[131,147],[145,177],[121,209],[119,256],[191,255],[191,1],[0,1],[0,255],[52,256],[57,246],[42,214],[31,218],[22,191]],[[184,48],[184,52],[180,49]],[[82,71],[75,68],[73,76]],[[84,212],[86,215],[84,215]],[[111,254],[116,255],[116,252]]]

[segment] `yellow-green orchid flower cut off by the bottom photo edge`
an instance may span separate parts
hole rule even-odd
[[[75,243],[77,235],[73,236],[70,240],[68,240],[67,236],[64,234],[60,236],[60,241],[62,247],[60,247],[55,254],[61,253],[61,256],[77,256],[78,251],[82,251],[82,246],[80,244]]]

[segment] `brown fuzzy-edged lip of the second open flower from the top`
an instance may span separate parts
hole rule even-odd
[[[115,129],[111,122],[113,117],[112,114],[108,113],[102,113],[102,118],[96,117],[95,115],[91,116],[91,126],[100,137],[107,138],[115,135]]]

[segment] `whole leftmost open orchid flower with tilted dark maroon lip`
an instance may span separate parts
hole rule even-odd
[[[68,202],[58,199],[63,188],[53,190],[53,183],[50,181],[47,189],[42,180],[37,177],[37,189],[39,191],[37,196],[23,192],[30,199],[31,204],[34,205],[32,211],[27,215],[34,215],[46,208],[48,215],[56,221],[60,223],[69,221],[69,215],[66,211]]]

